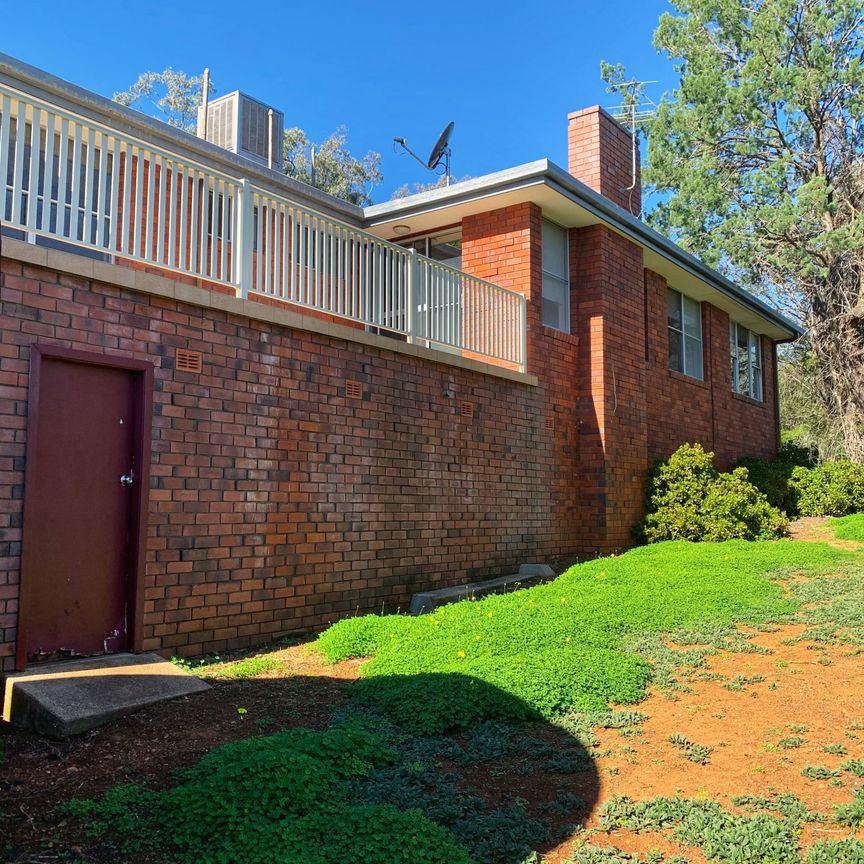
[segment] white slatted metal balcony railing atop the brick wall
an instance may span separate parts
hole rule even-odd
[[[0,222],[525,368],[521,294],[2,84]]]

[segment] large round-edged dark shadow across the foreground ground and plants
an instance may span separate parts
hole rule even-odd
[[[465,860],[522,864],[597,804],[579,737],[468,676],[212,683],[68,741],[6,730],[0,857],[335,864],[363,837],[365,864],[424,864],[446,836]],[[83,798],[93,809],[64,811]],[[282,851],[242,851],[265,847]]]

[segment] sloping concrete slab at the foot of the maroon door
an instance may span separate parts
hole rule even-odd
[[[139,708],[209,690],[156,654],[46,663],[5,681],[3,719],[41,735],[79,735]]]

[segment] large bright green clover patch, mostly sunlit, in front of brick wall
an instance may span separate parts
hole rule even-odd
[[[794,541],[653,544],[429,615],[347,619],[316,645],[334,662],[371,657],[355,695],[418,733],[603,710],[644,697],[651,664],[628,647],[633,640],[688,631],[718,639],[735,622],[789,617],[799,604],[773,575],[836,568],[853,557]],[[421,690],[410,677],[421,673],[441,679]],[[452,676],[460,676],[457,700],[446,683]],[[516,698],[503,704],[501,694]]]

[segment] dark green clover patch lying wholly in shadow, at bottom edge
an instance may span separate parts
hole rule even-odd
[[[453,834],[420,810],[345,793],[345,781],[395,759],[362,729],[298,729],[218,747],[171,789],[122,785],[63,806],[124,854],[159,850],[182,864],[471,864]]]

